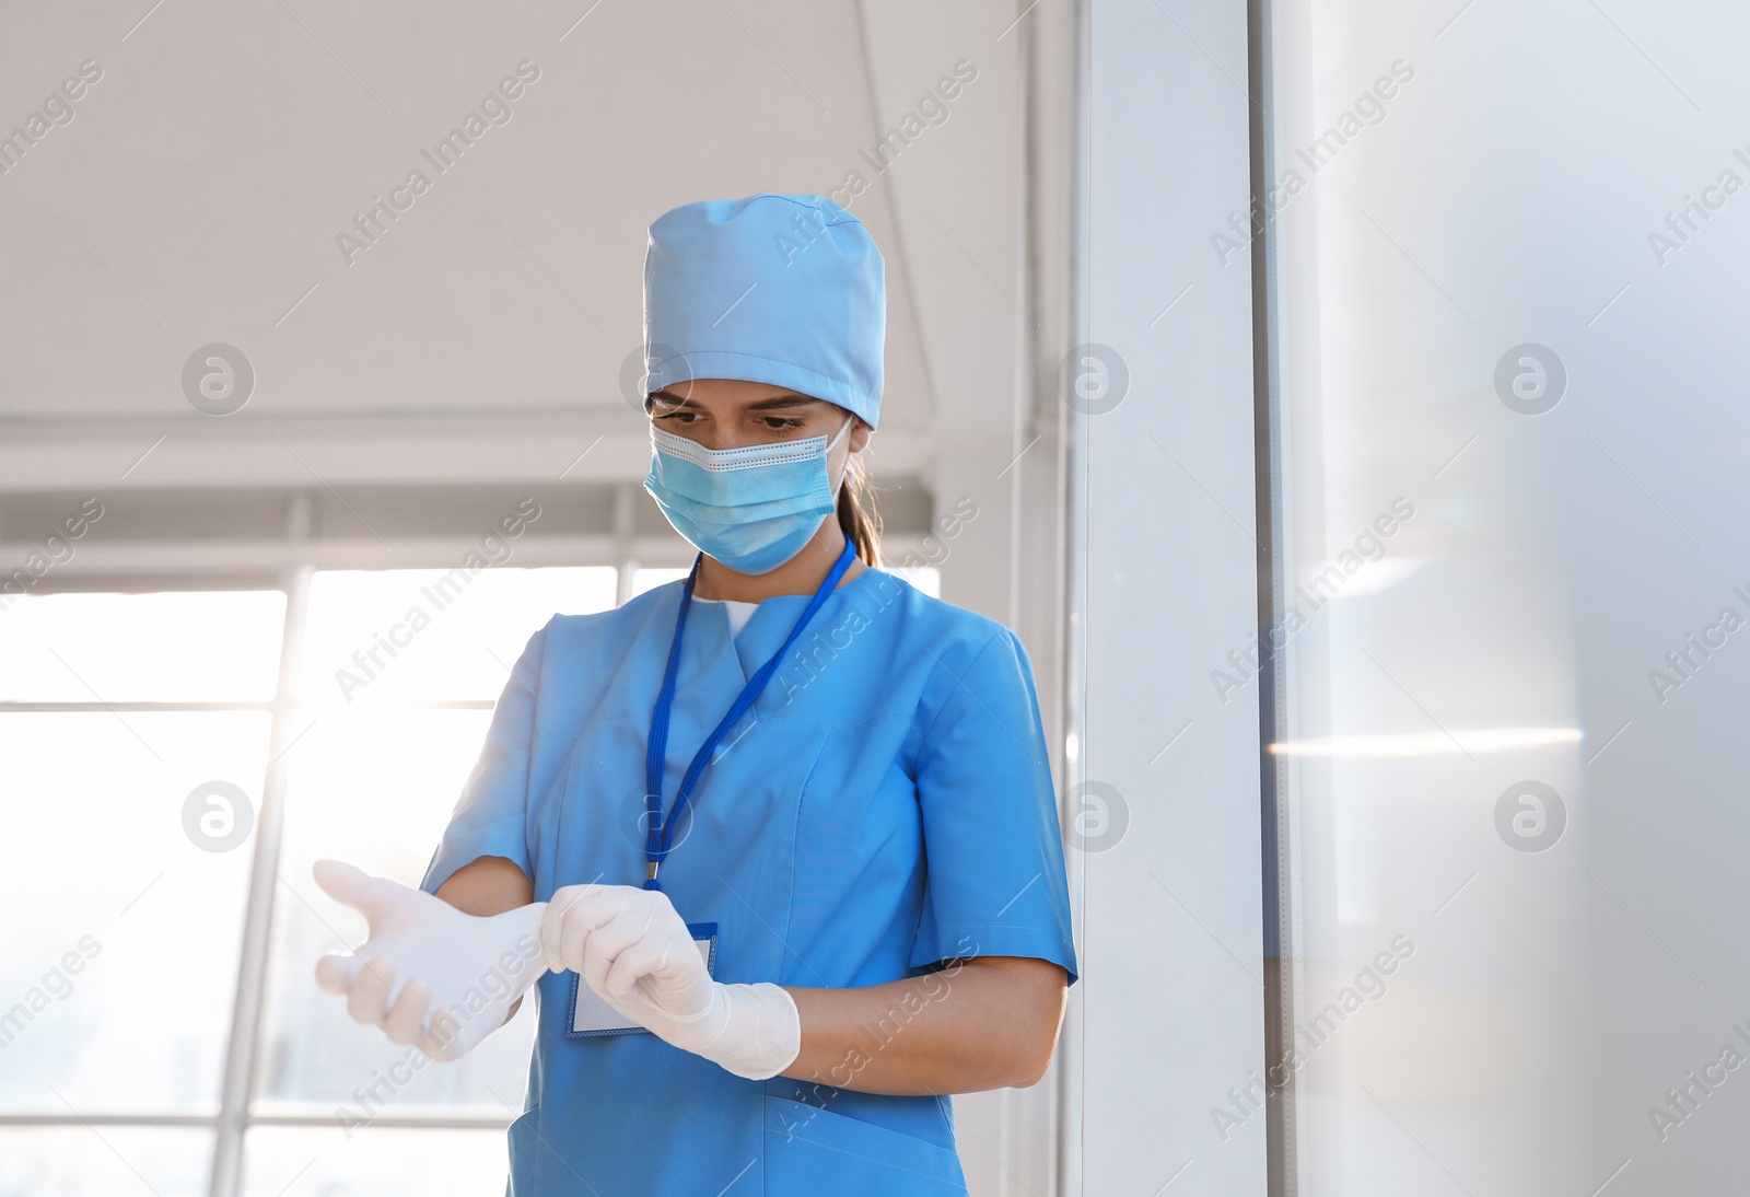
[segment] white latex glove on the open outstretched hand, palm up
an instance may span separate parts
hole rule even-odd
[[[544,901],[480,919],[341,861],[317,861],[312,873],[371,929],[357,954],[317,961],[317,985],[345,994],[352,1020],[382,1027],[392,1043],[453,1060],[499,1029],[546,973]]]

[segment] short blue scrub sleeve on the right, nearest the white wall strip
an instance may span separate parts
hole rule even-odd
[[[1032,667],[999,632],[964,665],[915,756],[926,894],[912,966],[1027,956],[1076,978],[1062,830]]]

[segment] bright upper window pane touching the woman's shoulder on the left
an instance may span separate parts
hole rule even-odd
[[[616,570],[329,570],[312,581],[299,696],[320,707],[497,698],[555,611],[614,606]]]

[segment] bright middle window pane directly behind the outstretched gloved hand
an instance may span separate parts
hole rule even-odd
[[[359,1106],[355,1090],[404,1076],[416,1054],[354,1024],[320,992],[324,952],[364,940],[364,919],[317,889],[310,864],[352,861],[416,886],[450,810],[480,756],[486,710],[352,710],[315,721],[287,756],[290,786],[268,970],[257,1110],[313,1102],[322,1113]],[[488,1113],[520,1102],[534,1043],[534,1003],[453,1064],[392,1083],[388,1108],[466,1104]],[[276,1104],[275,1104],[276,1102]],[[520,1104],[518,1104],[520,1110]]]

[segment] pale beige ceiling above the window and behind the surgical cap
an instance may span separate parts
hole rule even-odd
[[[756,191],[836,192],[882,247],[873,466],[931,485],[961,443],[1008,444],[1038,322],[1017,10],[0,5],[0,131],[102,72],[0,175],[0,490],[642,478],[646,228]],[[973,82],[877,172],[956,63]],[[504,122],[438,170],[424,152],[518,68],[509,117],[488,105]],[[346,252],[415,170],[424,194]],[[233,415],[184,394],[212,343],[256,374]]]

